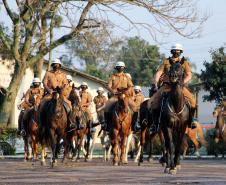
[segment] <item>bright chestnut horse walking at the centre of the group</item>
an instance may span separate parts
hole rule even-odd
[[[116,94],[118,101],[113,107],[112,126],[113,130],[111,135],[113,145],[113,165],[118,165],[118,148],[121,141],[121,155],[120,163],[123,164],[126,139],[131,132],[132,111],[129,108],[129,91],[128,89],[118,89]],[[126,163],[126,162],[125,162]]]

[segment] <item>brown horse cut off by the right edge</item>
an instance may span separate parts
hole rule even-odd
[[[221,105],[215,107],[213,116],[217,118],[215,126],[215,142],[218,143],[222,140],[226,143],[226,117],[223,115]]]

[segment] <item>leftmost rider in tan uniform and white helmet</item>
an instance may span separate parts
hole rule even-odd
[[[23,114],[23,121],[19,121],[19,131],[20,134],[22,136],[26,135],[25,132],[25,120],[27,119],[27,113],[28,111],[34,106],[34,100],[33,97],[34,95],[38,96],[40,99],[42,99],[43,95],[44,95],[44,89],[41,87],[41,80],[39,78],[34,78],[32,81],[32,85],[30,86],[30,88],[27,90],[27,92],[25,93],[24,96],[24,102],[26,103],[26,105],[28,106],[28,108],[24,111]],[[21,124],[21,125],[20,125]]]

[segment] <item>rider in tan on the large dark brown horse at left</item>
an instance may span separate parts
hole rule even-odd
[[[60,70],[61,66],[62,66],[61,61],[59,59],[55,59],[51,64],[52,70],[46,71],[46,74],[43,78],[45,97],[41,102],[40,109],[42,108],[46,101],[49,101],[52,98],[52,93],[54,92],[54,89],[56,87],[61,88],[64,99],[64,107],[68,115],[69,124],[70,126],[73,126],[74,123],[69,119],[72,110],[71,102],[68,100],[67,96],[68,93],[64,93],[68,86],[68,79],[66,74]]]

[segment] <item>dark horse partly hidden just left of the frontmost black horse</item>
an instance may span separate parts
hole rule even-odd
[[[155,115],[155,117],[158,117]],[[153,151],[153,140],[158,135],[161,142],[161,149],[162,149],[162,157],[160,158],[159,162],[164,165],[166,159],[165,159],[165,142],[164,137],[161,130],[158,130],[156,132],[150,133],[149,128],[154,124],[154,115],[150,108],[150,101],[145,100],[141,106],[140,106],[140,125],[141,125],[141,137],[140,137],[140,147],[138,149],[137,153],[137,159],[139,158],[138,165],[140,166],[143,162],[143,153],[144,153],[144,145],[147,141],[147,138],[150,141],[150,150],[149,150],[149,156],[148,161],[152,160],[152,151]],[[136,160],[137,160],[136,159]]]

